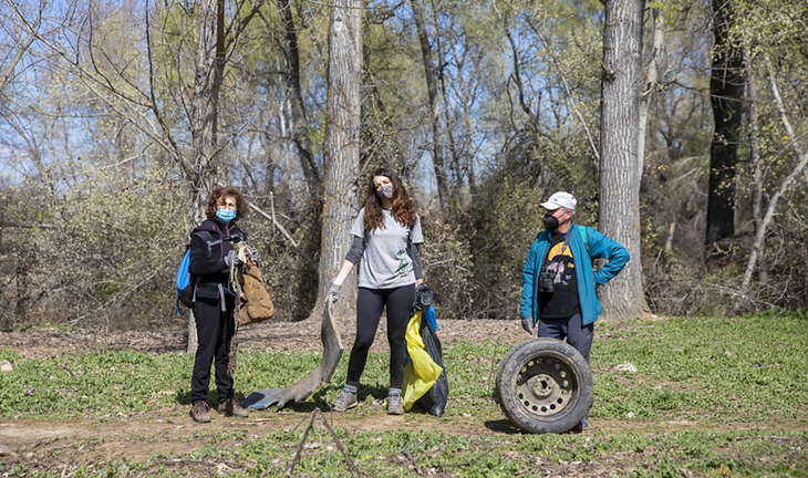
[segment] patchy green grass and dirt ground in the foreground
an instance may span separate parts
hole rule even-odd
[[[278,476],[293,466],[294,476],[808,476],[805,313],[599,323],[592,429],[583,434],[528,435],[507,424],[493,388],[508,349],[444,350],[450,399],[441,418],[386,416],[387,357],[372,354],[360,406],[327,413],[328,425],[309,427],[336,385],[207,428],[187,417],[191,356],[0,350],[14,365],[0,374],[0,475]],[[626,363],[638,372],[615,368]],[[245,353],[237,387],[286,386],[318,364],[315,354]],[[48,438],[49,427],[73,432]]]

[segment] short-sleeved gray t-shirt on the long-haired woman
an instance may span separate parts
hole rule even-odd
[[[364,230],[365,210],[359,211],[351,233],[364,238],[365,247],[359,268],[359,287],[367,289],[394,289],[415,283],[413,259],[408,243],[422,243],[421,218],[416,216],[412,228],[398,224],[393,214],[384,212],[384,228]]]

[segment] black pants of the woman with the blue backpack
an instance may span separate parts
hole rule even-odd
[[[191,402],[207,401],[210,384],[210,362],[216,361],[216,388],[219,402],[232,397],[232,377],[230,366],[230,341],[236,332],[232,297],[227,298],[227,311],[221,311],[218,300],[199,299],[194,303],[196,321],[196,358],[194,375],[190,377]]]

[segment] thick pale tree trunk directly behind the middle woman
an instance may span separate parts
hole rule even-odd
[[[360,155],[362,90],[362,0],[334,0],[329,24],[328,98],[320,248],[320,287],[317,306],[340,270],[351,245],[351,226],[358,211],[356,180]],[[355,297],[355,274],[342,285],[344,297]],[[352,313],[351,301],[338,302],[338,315]]]

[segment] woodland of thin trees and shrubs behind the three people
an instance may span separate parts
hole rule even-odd
[[[359,167],[340,197],[355,214],[370,172],[400,174],[439,316],[517,319],[539,202],[568,190],[578,224],[601,220],[604,4],[353,3]],[[641,174],[622,186],[646,312],[805,308],[808,6],[631,3]],[[323,215],[331,7],[0,0],[0,329],[182,326],[176,268],[215,184],[253,206],[278,319],[309,316],[323,241],[350,243]]]

